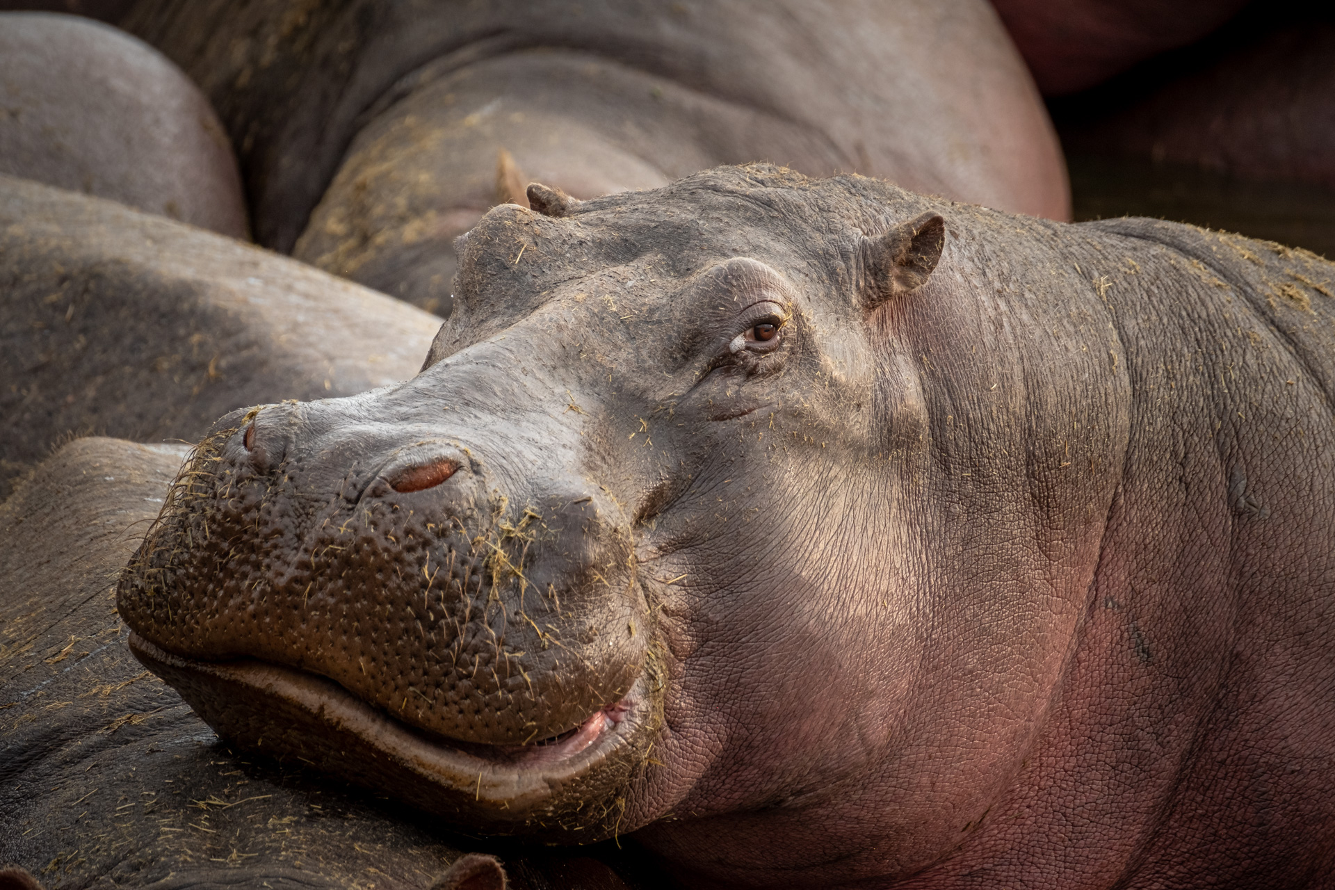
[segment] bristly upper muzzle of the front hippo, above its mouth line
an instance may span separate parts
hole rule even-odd
[[[142,643],[326,678],[511,759],[615,726],[647,651],[615,502],[559,467],[515,490],[529,456],[505,436],[339,402],[231,415],[199,446],[117,590]]]

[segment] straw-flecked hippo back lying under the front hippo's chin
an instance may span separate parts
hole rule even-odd
[[[131,656],[115,576],[186,454],[77,439],[0,504],[0,889],[499,890],[458,883],[498,873],[461,861],[475,841],[235,753]],[[587,854],[493,850],[511,890],[642,886]]]

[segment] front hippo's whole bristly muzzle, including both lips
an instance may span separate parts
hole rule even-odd
[[[617,507],[554,480],[514,508],[442,440],[364,478],[256,442],[206,443],[127,568],[140,660],[234,743],[471,827],[614,830],[662,686]]]

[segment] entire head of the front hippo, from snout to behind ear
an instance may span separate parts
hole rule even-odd
[[[964,422],[1020,379],[947,239],[987,212],[772,167],[530,197],[461,239],[417,378],[218,422],[120,580],[136,654],[234,743],[461,826],[782,869],[766,826],[844,855],[872,795],[902,867],[957,843],[1065,652],[1027,567],[1089,538],[1033,543],[1084,502],[973,522],[1035,430],[1013,387]]]

